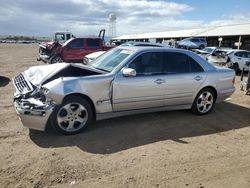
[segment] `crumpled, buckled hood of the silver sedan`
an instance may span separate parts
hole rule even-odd
[[[56,63],[52,65],[40,65],[30,67],[28,70],[24,71],[25,77],[31,82],[34,86],[42,85],[46,80],[50,79],[57,73],[62,70],[67,69],[68,67],[76,67],[79,69],[87,70],[88,72],[103,74],[105,72],[94,69],[90,66],[85,66],[82,64],[71,64],[71,63]]]

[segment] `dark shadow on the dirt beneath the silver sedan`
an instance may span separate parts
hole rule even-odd
[[[99,121],[78,135],[30,131],[30,138],[43,148],[77,146],[86,152],[109,154],[164,140],[188,144],[182,139],[247,127],[249,114],[249,108],[222,102],[204,116],[188,110],[148,113]]]

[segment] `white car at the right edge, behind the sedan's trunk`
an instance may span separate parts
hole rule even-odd
[[[250,62],[250,51],[233,50],[228,53],[227,67],[233,68],[236,72],[242,71],[243,68],[249,71],[248,62]]]

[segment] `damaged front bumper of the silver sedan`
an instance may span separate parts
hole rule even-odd
[[[51,101],[43,103],[35,98],[15,99],[14,105],[23,126],[40,131],[45,131],[55,107],[55,103]]]

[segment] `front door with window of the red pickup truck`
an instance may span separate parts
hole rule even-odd
[[[63,59],[66,62],[82,62],[84,52],[84,39],[73,39],[63,50]]]

